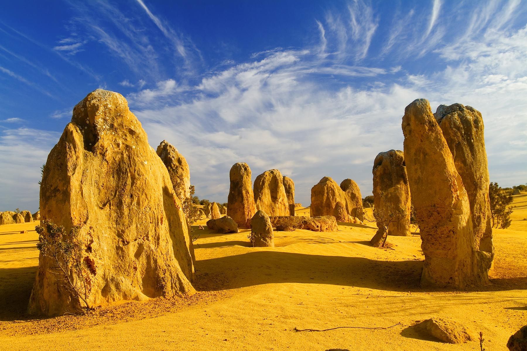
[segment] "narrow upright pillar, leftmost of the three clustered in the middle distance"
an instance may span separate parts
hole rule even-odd
[[[246,163],[235,163],[229,172],[230,189],[227,215],[240,228],[250,228],[251,218],[256,213],[255,196],[252,192],[251,169]]]

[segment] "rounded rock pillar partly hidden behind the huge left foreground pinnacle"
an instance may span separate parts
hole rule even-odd
[[[187,160],[166,140],[159,144],[156,153],[167,166],[175,195],[183,201],[184,198],[190,196],[190,169]]]

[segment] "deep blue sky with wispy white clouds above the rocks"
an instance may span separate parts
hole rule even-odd
[[[525,1],[4,3],[0,210],[38,208],[39,168],[96,88],[218,202],[236,162],[278,168],[305,205],[324,176],[370,195],[416,98],[482,112],[491,181],[527,182]]]

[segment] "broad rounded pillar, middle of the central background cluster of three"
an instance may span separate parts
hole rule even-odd
[[[257,210],[261,209],[269,216],[289,215],[284,177],[278,169],[270,169],[256,177],[253,188]]]

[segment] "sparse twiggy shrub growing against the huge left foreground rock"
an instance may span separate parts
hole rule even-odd
[[[93,259],[84,255],[89,245],[85,245],[79,237],[79,227],[73,227],[66,233],[63,226],[44,220],[35,230],[38,233],[36,247],[43,256],[52,260],[51,272],[60,277],[62,285],[74,298],[80,298],[90,309],[88,297],[96,270]]]

